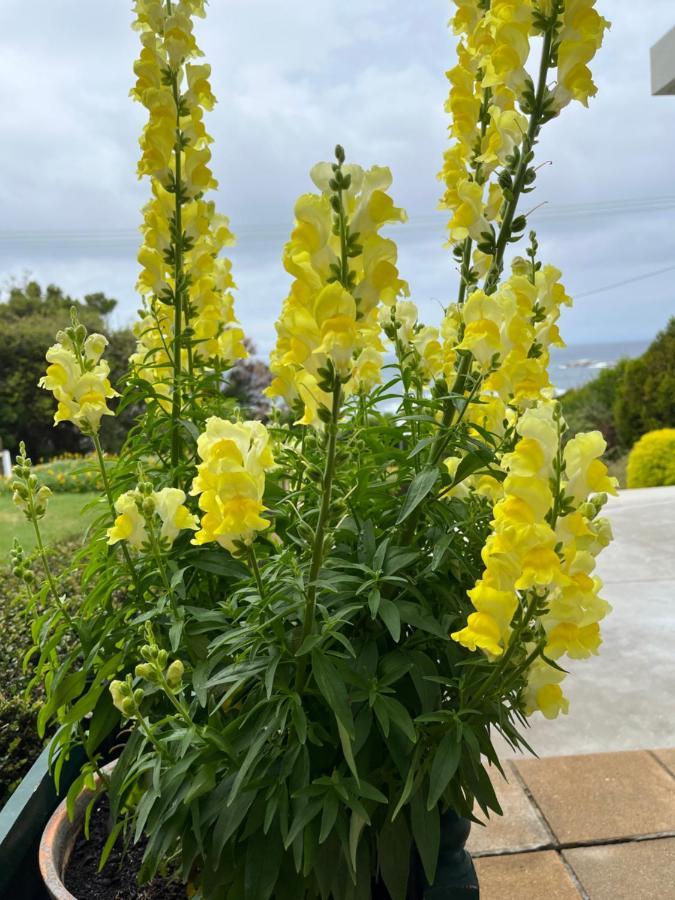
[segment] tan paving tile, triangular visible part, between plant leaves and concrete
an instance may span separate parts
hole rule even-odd
[[[476,824],[471,826],[467,849],[474,855],[504,850],[536,850],[552,844],[551,835],[523,790],[518,776],[508,765],[504,767],[504,771],[508,781],[499,772],[495,772],[492,777],[504,815],[493,815],[485,827]],[[476,815],[483,817],[480,810],[477,810]]]

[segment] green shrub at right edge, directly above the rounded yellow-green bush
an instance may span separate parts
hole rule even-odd
[[[648,431],[675,427],[675,318],[639,359],[624,366],[614,421],[619,443],[626,449]]]

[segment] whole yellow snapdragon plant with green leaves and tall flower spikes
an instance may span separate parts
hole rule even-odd
[[[104,339],[74,319],[42,382],[105,483],[81,615],[48,579],[36,629],[52,752],[88,757],[69,808],[105,791],[104,861],[141,841],[139,877],[191,896],[475,895],[462,819],[500,812],[493,735],[526,746],[527,716],[567,711],[561,663],[597,652],[608,610],[593,570],[614,483],[598,433],[565,443],[547,369],[570,300],[534,233],[506,259],[540,130],[593,95],[607,23],[592,0],[457,2],[442,177],[460,286],[439,326],[419,321],[381,234],[405,221],[389,170],[340,146],[312,170],[284,250],[268,391],[282,402],[263,424],[222,393],[246,351],[208,199],[204,4],[135,5],[152,197],[121,402],[145,412],[117,461],[98,436],[115,398]],[[48,497],[25,455],[15,492],[37,524]],[[57,658],[63,629],[77,645]],[[119,728],[108,773],[98,748]]]

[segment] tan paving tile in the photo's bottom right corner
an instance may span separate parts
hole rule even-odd
[[[564,857],[591,900],[675,898],[675,838],[579,847]]]

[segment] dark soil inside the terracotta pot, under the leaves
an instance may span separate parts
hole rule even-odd
[[[125,852],[120,839],[105,868],[98,871],[101,852],[108,839],[108,802],[97,803],[89,825],[89,840],[80,834],[66,869],[66,887],[77,900],[185,900],[185,885],[155,878],[139,885],[137,876],[145,844],[132,844]]]

